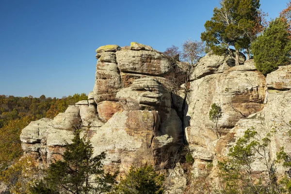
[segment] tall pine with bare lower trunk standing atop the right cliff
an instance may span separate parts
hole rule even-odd
[[[239,65],[239,50],[248,49],[254,29],[258,27],[259,0],[221,0],[213,16],[205,23],[201,40],[215,54],[225,53],[229,46],[235,48],[236,65]]]

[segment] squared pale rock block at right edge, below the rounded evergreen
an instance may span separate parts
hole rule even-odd
[[[280,66],[268,74],[267,87],[275,90],[291,89],[291,65]]]

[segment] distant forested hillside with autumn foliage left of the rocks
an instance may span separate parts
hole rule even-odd
[[[0,169],[18,160],[22,154],[20,133],[31,121],[53,118],[69,105],[87,99],[86,94],[62,98],[14,97],[0,95]]]

